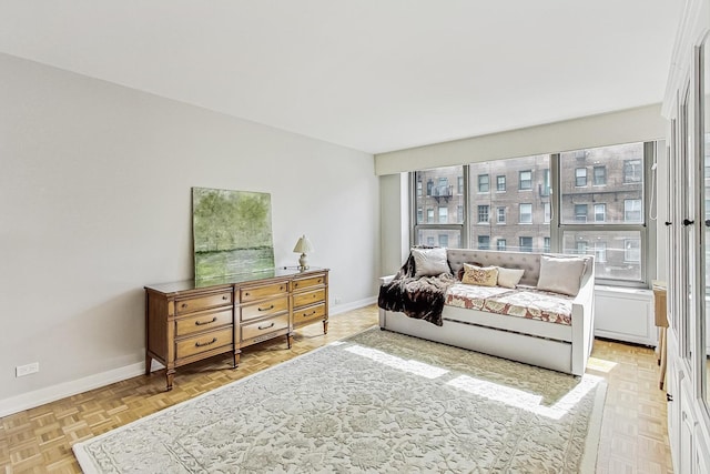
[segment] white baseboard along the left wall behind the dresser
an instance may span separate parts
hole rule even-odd
[[[368,306],[376,302],[377,297],[372,296],[347,304],[333,305],[331,306],[331,315],[346,313],[352,310]],[[161,364],[158,361],[153,361],[153,372],[162,369],[162,366],[159,367],[159,365]],[[101,372],[94,375],[89,375],[71,382],[63,382],[57,385],[23,393],[21,395],[0,400],[0,417],[21,412],[23,410],[34,409],[45,403],[55,402],[68,396],[77,395],[78,393],[100,389],[102,386],[139,376],[144,373],[145,362],[136,362],[135,364],[125,365],[123,367],[113,369],[111,371]]]

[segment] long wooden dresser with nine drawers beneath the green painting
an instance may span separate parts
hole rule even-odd
[[[328,329],[328,270],[276,269],[145,286],[145,374],[153,360],[165,365],[168,390],[179,366],[322,322]]]

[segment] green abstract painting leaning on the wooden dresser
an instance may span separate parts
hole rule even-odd
[[[195,280],[274,268],[271,194],[192,189]]]

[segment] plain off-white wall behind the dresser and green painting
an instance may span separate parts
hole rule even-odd
[[[143,285],[192,276],[191,186],[271,193],[276,263],[306,233],[334,312],[375,295],[371,154],[7,54],[0,111],[0,411],[143,361]]]

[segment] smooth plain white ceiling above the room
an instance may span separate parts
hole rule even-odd
[[[661,102],[683,0],[0,0],[0,52],[369,153]]]

